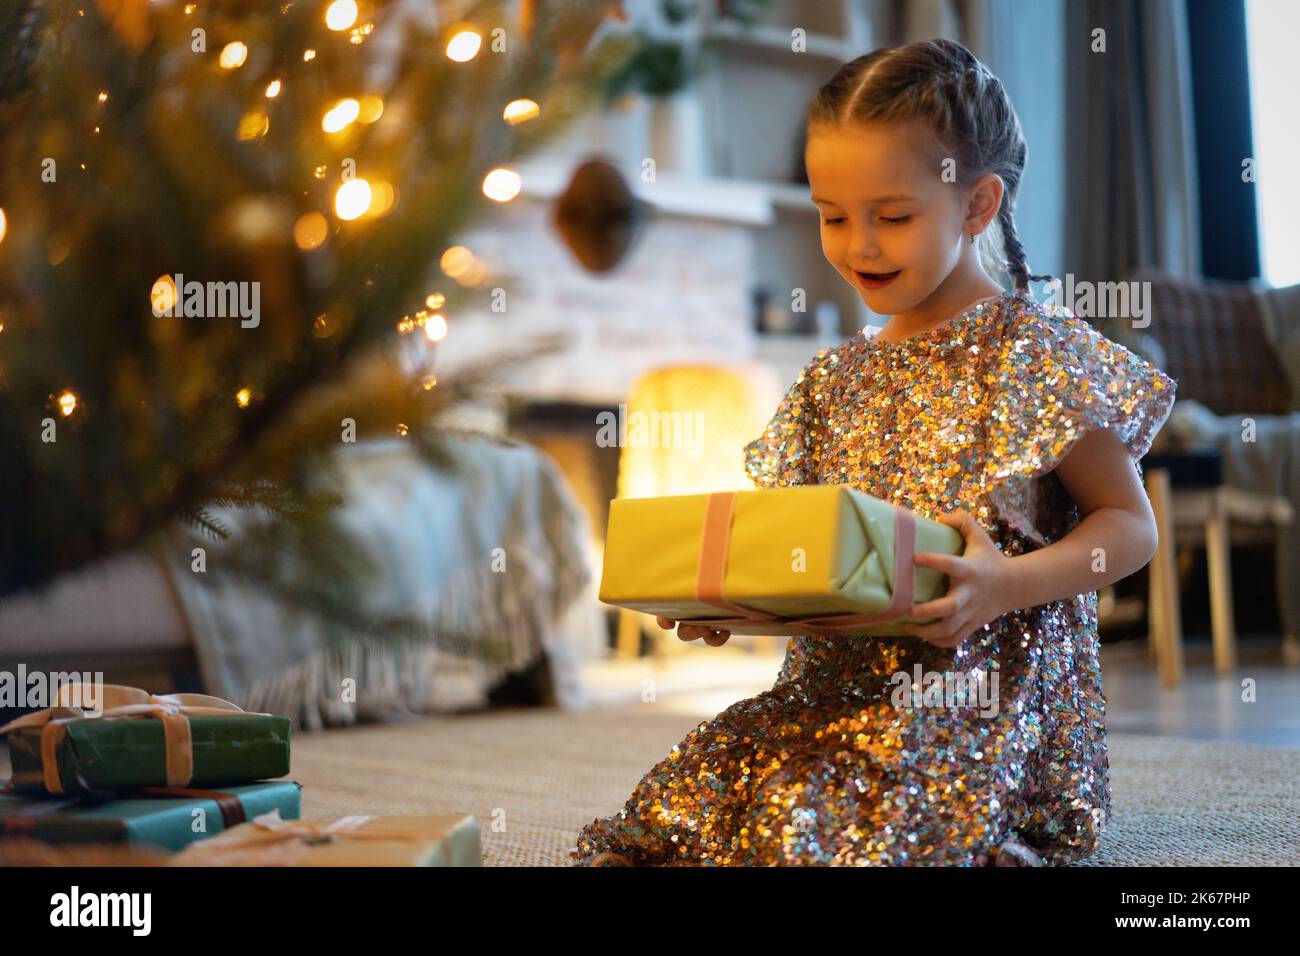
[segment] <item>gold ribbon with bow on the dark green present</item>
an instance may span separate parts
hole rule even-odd
[[[161,721],[166,786],[185,787],[194,777],[191,717],[270,717],[270,714],[244,710],[237,704],[205,693],[152,695],[148,691],[125,684],[104,684],[104,706],[98,711],[83,710],[68,704],[69,700],[79,700],[79,697],[72,697],[77,689],[78,684],[64,684],[55,696],[55,706],[23,714],[0,727],[0,734],[8,734],[21,727],[42,727],[40,766],[46,777],[46,790],[51,793],[64,792],[64,783],[58,779],[58,747],[68,736],[70,723],[136,718]]]

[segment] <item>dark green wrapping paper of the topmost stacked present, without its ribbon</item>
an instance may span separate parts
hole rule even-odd
[[[265,780],[289,773],[287,717],[244,714],[190,717],[194,775],[186,786],[212,787]],[[164,787],[166,749],[155,718],[68,721],[55,752],[65,793]],[[44,727],[9,731],[13,790],[48,795],[40,737]]]

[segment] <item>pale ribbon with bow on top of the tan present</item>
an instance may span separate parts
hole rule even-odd
[[[179,865],[229,866],[252,862],[257,866],[294,866],[313,845],[348,840],[389,843],[430,842],[428,830],[365,830],[373,816],[341,817],[330,823],[304,823],[281,819],[280,810],[254,817],[250,825],[191,844],[177,857]],[[251,860],[248,857],[252,857]]]

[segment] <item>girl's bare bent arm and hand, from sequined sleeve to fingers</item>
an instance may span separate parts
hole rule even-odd
[[[1063,538],[1006,557],[966,511],[941,520],[966,540],[961,557],[918,554],[915,563],[949,575],[944,597],[914,605],[910,617],[940,618],[909,633],[954,646],[1008,611],[1061,601],[1127,578],[1156,553],[1156,519],[1132,457],[1109,428],[1088,432],[1061,459],[1057,476],[1083,520]]]

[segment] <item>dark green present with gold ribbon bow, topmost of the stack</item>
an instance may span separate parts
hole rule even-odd
[[[289,773],[287,717],[254,714],[202,693],[152,696],[103,685],[103,708],[58,706],[10,721],[13,788],[20,793],[112,792],[130,787],[213,787]]]

